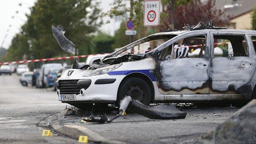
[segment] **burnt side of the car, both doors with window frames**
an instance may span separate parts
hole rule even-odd
[[[212,31],[220,34],[217,30]],[[249,56],[213,58],[214,40],[212,34],[207,36],[204,58],[160,60],[158,56],[161,50],[176,41],[178,39],[176,37],[154,51],[155,76],[159,92],[165,95],[165,100],[188,100],[189,98],[186,96],[190,96],[192,101],[200,100],[200,96],[204,96],[201,100],[244,100],[251,98],[256,83],[256,62],[255,53],[252,53],[254,52],[252,45],[248,42],[245,33],[224,32],[223,30],[221,32],[245,35]],[[211,45],[210,50],[208,45]],[[210,94],[208,98],[206,98],[207,94]]]

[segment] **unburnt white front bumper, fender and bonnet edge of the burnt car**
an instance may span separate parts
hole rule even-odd
[[[87,102],[115,102],[117,91],[119,84],[123,80],[124,77],[127,76],[127,74],[132,73],[146,73],[148,74],[148,78],[151,77],[152,83],[154,85],[155,89],[155,100],[163,101],[162,94],[159,93],[157,90],[157,84],[155,81],[155,77],[153,75],[149,74],[149,71],[153,70],[153,60],[152,58],[146,58],[139,61],[132,61],[132,62],[125,62],[122,63],[121,66],[116,68],[115,70],[108,72],[106,74],[102,75],[96,75],[96,76],[88,76],[83,77],[84,73],[86,71],[80,70],[80,69],[69,69],[66,70],[61,77],[58,79],[58,81],[61,80],[91,80],[90,86],[85,90],[84,95],[77,94],[76,95],[76,101],[87,101]],[[67,76],[69,71],[73,71],[70,76]],[[147,71],[147,72],[145,72]],[[121,73],[121,74],[118,74]],[[114,83],[111,84],[105,84],[107,86],[103,86],[102,84],[95,84],[95,81],[98,79],[116,79]],[[110,89],[109,89],[110,88]],[[59,89],[57,90],[58,93],[60,93]],[[58,95],[58,100],[61,100],[60,94]]]

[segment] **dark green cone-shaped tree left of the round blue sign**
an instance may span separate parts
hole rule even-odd
[[[129,36],[125,35],[125,21],[121,22],[120,28],[114,32],[114,43],[112,44],[112,48],[119,48],[129,43]]]

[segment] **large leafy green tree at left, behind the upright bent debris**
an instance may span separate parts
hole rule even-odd
[[[80,54],[90,53],[92,36],[89,34],[101,24],[98,20],[98,3],[92,4],[91,1],[37,0],[21,27],[22,32],[12,39],[5,60],[19,60],[23,54],[33,58],[67,55],[60,49],[51,32],[51,25],[58,24],[64,27],[65,36],[75,44]]]

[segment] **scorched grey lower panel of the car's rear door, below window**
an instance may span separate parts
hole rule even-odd
[[[212,83],[214,92],[251,93],[249,81],[255,72],[255,62],[246,56],[218,57],[212,61]]]

